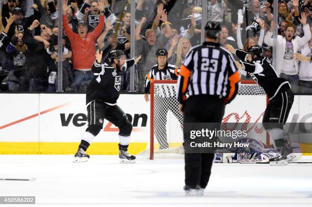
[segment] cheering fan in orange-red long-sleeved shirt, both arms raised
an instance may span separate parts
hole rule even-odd
[[[66,12],[70,6],[67,5],[68,0],[63,0],[63,28],[67,35],[72,52],[73,52],[73,69],[75,89],[80,91],[81,83],[92,79],[91,67],[95,56],[95,43],[104,28],[104,16],[100,14],[99,23],[93,32],[88,33],[88,25],[80,21],[77,24],[77,32],[74,33],[68,25]],[[103,0],[99,1],[98,9],[103,11]]]

